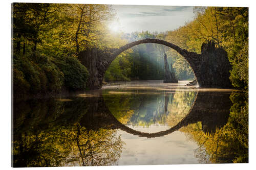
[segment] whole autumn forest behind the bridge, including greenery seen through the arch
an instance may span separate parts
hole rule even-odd
[[[248,8],[194,7],[194,20],[162,33],[113,33],[111,5],[12,4],[14,94],[58,93],[88,89],[88,69],[77,59],[90,48],[118,48],[145,38],[163,39],[189,52],[201,52],[205,40],[223,47],[232,65],[230,81],[248,90]],[[193,80],[183,57],[159,44],[140,44],[121,53],[104,81],[161,80],[164,53],[178,80]]]

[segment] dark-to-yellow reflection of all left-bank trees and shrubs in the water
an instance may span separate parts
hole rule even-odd
[[[14,167],[114,165],[124,144],[116,130],[90,130],[79,124],[99,100],[15,104]]]

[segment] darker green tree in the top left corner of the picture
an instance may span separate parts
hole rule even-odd
[[[13,3],[13,38],[16,52],[20,53],[23,43],[23,54],[26,44],[36,51],[37,44],[42,42],[42,34],[60,25],[62,18],[60,4]]]

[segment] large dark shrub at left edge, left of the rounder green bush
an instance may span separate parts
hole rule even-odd
[[[13,85],[15,93],[57,92],[62,87],[63,73],[48,57],[39,53],[14,56]]]

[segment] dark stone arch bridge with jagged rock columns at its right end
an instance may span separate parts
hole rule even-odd
[[[197,54],[188,52],[164,40],[148,38],[128,43],[120,48],[112,48],[104,51],[92,48],[80,52],[78,59],[90,72],[88,80],[89,88],[101,88],[105,71],[112,61],[125,50],[143,43],[162,44],[177,51],[193,69],[200,87],[224,88],[231,86],[229,80],[231,66],[227,58],[227,53],[222,47],[217,47],[214,41],[205,41],[201,46],[201,54]]]

